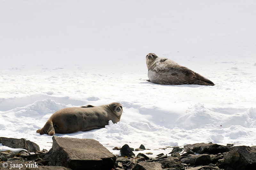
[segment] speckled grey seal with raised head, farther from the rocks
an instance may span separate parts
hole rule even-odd
[[[200,74],[154,53],[146,56],[148,81],[162,85],[214,85]]]

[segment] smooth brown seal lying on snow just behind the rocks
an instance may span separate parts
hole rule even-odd
[[[42,129],[36,130],[40,135],[55,133],[73,133],[104,128],[108,121],[119,122],[123,112],[120,103],[101,106],[81,106],[60,109],[48,119]]]

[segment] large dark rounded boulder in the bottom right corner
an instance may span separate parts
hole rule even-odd
[[[256,146],[234,146],[219,163],[234,170],[254,170],[256,167]]]

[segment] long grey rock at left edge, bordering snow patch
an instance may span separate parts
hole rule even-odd
[[[26,149],[28,152],[40,151],[40,148],[37,144],[29,140],[26,140],[24,138],[16,139],[16,138],[0,137],[0,143],[10,148]]]

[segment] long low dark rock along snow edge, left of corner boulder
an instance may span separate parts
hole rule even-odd
[[[185,147],[185,146],[184,146]],[[229,149],[227,146],[219,145],[219,144],[205,144],[205,143],[197,143],[197,144],[191,144],[189,146],[186,146],[186,152],[188,151],[193,151],[199,154],[218,154],[218,153],[223,153],[223,152],[228,152]]]

